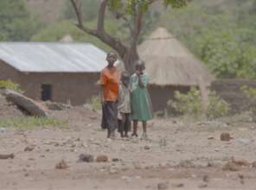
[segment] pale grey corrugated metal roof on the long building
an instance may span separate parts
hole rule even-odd
[[[0,60],[21,72],[99,72],[106,53],[89,43],[0,42]]]

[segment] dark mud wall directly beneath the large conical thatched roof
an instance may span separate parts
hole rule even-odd
[[[167,102],[174,98],[174,92],[188,92],[190,87],[188,86],[159,86],[159,85],[150,85],[149,92],[153,104],[154,111],[164,111],[166,108]]]

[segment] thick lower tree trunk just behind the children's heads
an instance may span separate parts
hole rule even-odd
[[[125,52],[125,57],[123,59],[125,63],[125,70],[129,73],[134,73],[135,71],[135,63],[139,60],[137,46],[132,46],[128,48]]]

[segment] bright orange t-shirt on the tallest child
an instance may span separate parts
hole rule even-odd
[[[100,73],[100,84],[103,85],[103,93],[105,101],[115,102],[118,100],[119,90],[119,72],[113,66],[112,68],[106,67]]]

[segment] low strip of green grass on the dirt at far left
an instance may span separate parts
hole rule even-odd
[[[54,118],[45,117],[16,117],[12,119],[1,119],[0,127],[15,127],[17,129],[34,129],[35,127],[58,127],[66,128],[68,126],[67,120],[56,120]]]

